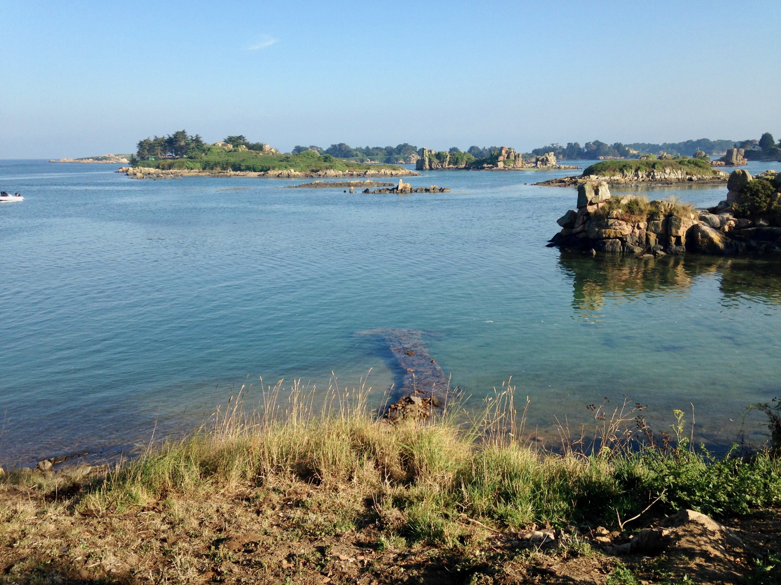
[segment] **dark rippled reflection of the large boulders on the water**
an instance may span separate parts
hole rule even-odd
[[[562,269],[572,277],[572,307],[593,318],[607,300],[640,296],[686,295],[694,282],[717,276],[724,307],[781,304],[781,266],[776,261],[707,256],[637,258],[619,254],[597,257],[562,250]]]

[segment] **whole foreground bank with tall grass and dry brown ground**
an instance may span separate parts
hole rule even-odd
[[[595,441],[565,438],[549,452],[524,440],[510,391],[469,424],[446,413],[396,425],[377,421],[360,392],[315,412],[311,395],[294,388],[279,401],[279,391],[251,417],[234,406],[105,477],[12,473],[0,491],[2,579],[636,583],[637,573],[673,583],[705,569],[665,555],[627,568],[594,548],[593,529],[619,534],[678,509],[772,523],[781,505],[772,452],[695,451],[682,413],[672,437],[654,438],[631,407],[597,408]],[[544,528],[554,545],[518,540]],[[773,543],[711,559],[708,574],[775,578]]]

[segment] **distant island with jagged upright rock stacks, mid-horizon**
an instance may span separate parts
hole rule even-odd
[[[451,149],[450,151],[432,151],[420,149],[420,156],[415,162],[418,171],[448,171],[462,169],[470,171],[533,171],[533,170],[575,170],[580,167],[558,165],[555,154],[548,152],[535,156],[527,161],[514,148],[500,147],[491,151],[486,158],[475,158],[469,152]]]

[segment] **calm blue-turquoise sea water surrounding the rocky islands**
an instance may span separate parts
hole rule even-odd
[[[693,403],[698,436],[726,445],[779,393],[779,265],[547,248],[576,193],[530,183],[567,172],[430,172],[409,182],[451,193],[398,197],[114,170],[0,161],[25,197],[0,205],[0,463],[112,456],[260,376],[353,387],[371,369],[379,403],[400,373],[356,335],[376,327],[431,332],[473,402],[512,376],[540,432],[626,394],[657,427]],[[647,194],[709,205],[726,187]]]

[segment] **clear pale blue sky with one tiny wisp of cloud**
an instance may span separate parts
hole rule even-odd
[[[0,0],[0,158],[781,138],[781,2]]]

